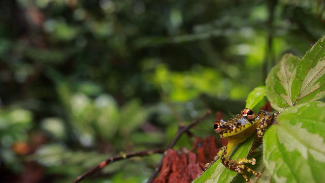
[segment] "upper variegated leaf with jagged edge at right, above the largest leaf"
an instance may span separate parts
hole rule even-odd
[[[266,79],[266,95],[279,111],[325,96],[325,36],[299,60],[286,54]]]

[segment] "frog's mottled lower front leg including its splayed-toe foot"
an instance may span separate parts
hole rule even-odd
[[[245,165],[243,165],[244,163],[249,163],[252,165],[255,165],[256,160],[254,158],[252,159],[247,159],[247,158],[239,158],[236,161],[231,160],[228,158],[229,155],[227,153],[227,147],[224,148],[223,154],[221,156],[221,163],[228,169],[233,170],[237,173],[240,173],[243,175],[243,177],[245,178],[246,182],[251,182],[251,179],[249,179],[247,177],[247,175],[245,174],[245,172],[243,170],[246,170],[248,172],[251,172],[253,175],[255,175],[257,178],[259,178],[261,176],[260,172],[256,172],[248,167],[246,167]]]

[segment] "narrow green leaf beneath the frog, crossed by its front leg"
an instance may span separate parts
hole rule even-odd
[[[255,135],[252,135],[244,142],[240,143],[234,148],[235,153],[231,156],[231,159],[237,160],[238,158],[247,157],[249,150],[253,144]],[[208,168],[200,177],[195,179],[193,183],[200,182],[232,182],[232,180],[236,177],[237,173],[235,171],[226,169],[223,164],[220,162],[220,158],[210,167]],[[240,175],[241,176],[241,175]]]

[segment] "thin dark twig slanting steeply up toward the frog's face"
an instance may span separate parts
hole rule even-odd
[[[187,126],[184,126],[184,127],[179,126],[179,129],[178,129],[178,132],[177,132],[176,136],[175,136],[174,139],[171,141],[171,143],[169,143],[167,149],[172,148],[172,147],[176,144],[177,140],[181,137],[181,135],[182,135],[184,132],[186,132],[188,129],[192,128],[194,125],[197,125],[198,123],[200,123],[200,122],[201,122],[203,119],[205,119],[205,118],[206,118],[210,113],[211,113],[211,110],[207,110],[206,113],[205,113],[202,117],[200,117],[200,118],[198,118],[198,119],[194,119],[194,120],[192,121],[191,124],[189,124],[189,125],[187,125]],[[153,179],[156,177],[156,175],[158,174],[158,172],[159,172],[161,166],[163,165],[163,159],[164,159],[164,157],[161,158],[159,164],[156,166],[156,168],[155,168],[153,174],[151,175],[151,177],[149,178],[149,180],[147,181],[147,183],[151,183],[151,182],[153,181]]]

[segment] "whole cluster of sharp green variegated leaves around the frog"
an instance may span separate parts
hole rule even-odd
[[[272,68],[266,86],[255,88],[246,107],[254,108],[264,97],[276,109],[274,125],[263,138],[263,173],[274,182],[322,182],[325,167],[325,36],[300,60],[285,54]],[[240,144],[246,157],[251,141]],[[235,155],[233,159],[236,159]],[[263,168],[264,167],[264,168]],[[226,174],[226,179],[222,178]],[[194,182],[231,182],[235,172],[217,161]],[[254,182],[256,180],[251,177]],[[266,178],[262,177],[262,178]],[[238,181],[236,179],[235,181]]]

